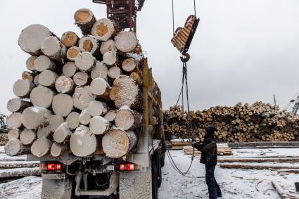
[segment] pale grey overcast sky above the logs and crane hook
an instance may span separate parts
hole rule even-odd
[[[201,23],[189,53],[190,103],[193,109],[234,105],[238,101],[273,103],[281,108],[299,90],[299,1],[196,0]],[[193,13],[192,0],[174,0],[175,27]],[[13,83],[21,78],[29,57],[18,46],[18,35],[33,23],[49,27],[59,37],[72,30],[79,8],[96,18],[106,7],[91,0],[14,0],[0,2],[0,112],[13,98]],[[163,93],[164,107],[176,103],[182,63],[172,37],[171,0],[146,0],[138,14],[137,34],[153,75]]]

